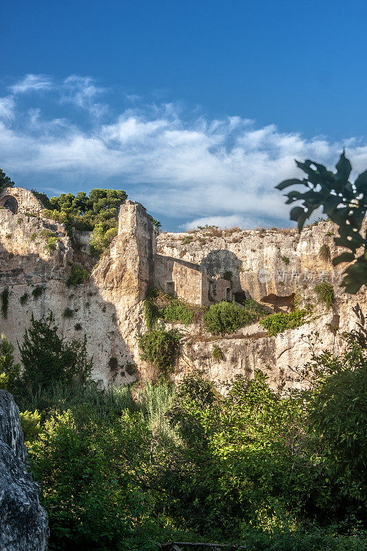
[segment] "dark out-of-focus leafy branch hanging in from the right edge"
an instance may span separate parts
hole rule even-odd
[[[311,214],[323,207],[324,214],[338,226],[339,237],[334,238],[335,245],[350,251],[334,258],[333,264],[353,262],[346,269],[342,284],[348,293],[357,293],[362,285],[367,284],[367,238],[362,231],[362,222],[367,212],[367,170],[359,174],[354,183],[350,183],[348,178],[352,165],[344,152],[336,165],[336,173],[312,160],[304,163],[296,161],[296,165],[306,173],[306,178],[291,178],[276,186],[280,190],[294,185],[306,187],[303,194],[300,191],[289,191],[286,194],[288,205],[295,201],[302,202],[302,206],[291,210],[291,220],[296,220],[301,230]],[[357,257],[360,247],[364,250]]]

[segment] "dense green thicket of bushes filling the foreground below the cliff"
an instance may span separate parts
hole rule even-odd
[[[176,389],[54,382],[43,408],[30,395],[23,409],[38,408],[41,433],[28,435],[28,451],[50,548],[364,550],[365,344],[348,335],[342,357],[313,354],[300,370],[308,390],[289,394],[257,372],[235,377],[225,396],[198,373]]]

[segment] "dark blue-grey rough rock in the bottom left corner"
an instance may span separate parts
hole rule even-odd
[[[12,395],[0,390],[1,551],[47,549],[48,517],[26,462],[19,409]]]

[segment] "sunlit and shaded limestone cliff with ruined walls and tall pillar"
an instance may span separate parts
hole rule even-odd
[[[93,376],[104,384],[149,377],[149,366],[140,360],[138,349],[138,335],[146,331],[148,287],[164,289],[197,306],[246,297],[273,311],[289,311],[295,293],[298,300],[313,303],[309,322],[275,337],[259,324],[222,337],[209,335],[195,323],[176,325],[183,336],[174,379],[200,369],[219,386],[236,374],[253,377],[256,369],[269,375],[273,386],[284,377],[292,380],[295,366],[304,364],[309,355],[302,335],[317,330],[322,346],[337,353],[342,346],[340,333],[357,327],[367,314],[366,289],[357,295],[345,293],[340,287],[340,269],[319,255],[324,245],[331,258],[339,253],[330,222],[300,234],[234,229],[157,237],[145,208],[126,200],[118,215],[118,235],[93,268],[94,260],[83,252],[87,232],[74,231],[80,245],[76,247],[65,226],[41,217],[43,205],[32,192],[3,189],[0,207],[0,293],[6,287],[9,290],[0,331],[16,346],[32,313],[41,317],[52,311],[67,339],[87,336],[87,351],[94,358]],[[57,237],[54,251],[45,247],[45,230]],[[89,282],[67,286],[73,263],[92,270]],[[229,279],[223,277],[226,273],[231,274]],[[315,299],[313,288],[321,280],[334,285],[331,309]],[[34,293],[36,288],[41,293]],[[66,308],[72,311],[71,318],[63,315]],[[215,346],[222,350],[220,361],[213,359]]]

